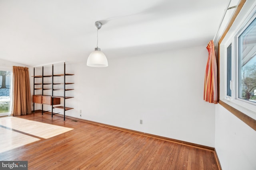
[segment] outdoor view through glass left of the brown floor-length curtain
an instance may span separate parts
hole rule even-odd
[[[11,72],[0,71],[0,113],[10,110]]]

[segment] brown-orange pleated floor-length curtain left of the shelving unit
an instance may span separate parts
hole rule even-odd
[[[31,94],[27,67],[13,66],[13,102],[12,115],[31,113]]]

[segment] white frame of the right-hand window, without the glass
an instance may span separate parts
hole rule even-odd
[[[247,3],[248,2],[248,3]],[[256,2],[247,1],[219,46],[220,100],[256,119],[256,103],[238,98],[238,37],[256,18]],[[232,44],[232,96],[227,96],[227,48]]]

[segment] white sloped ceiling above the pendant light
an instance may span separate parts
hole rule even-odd
[[[207,45],[228,0],[0,0],[0,59],[29,66]]]

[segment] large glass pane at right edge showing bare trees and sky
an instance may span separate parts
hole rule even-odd
[[[238,98],[256,103],[256,19],[238,38]]]

